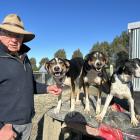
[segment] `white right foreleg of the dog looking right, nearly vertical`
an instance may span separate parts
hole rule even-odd
[[[130,104],[130,113],[131,113],[131,124],[133,126],[137,126],[139,121],[136,119],[136,116],[135,116],[135,111],[134,111],[134,99],[133,98],[130,98],[128,99],[128,102]]]

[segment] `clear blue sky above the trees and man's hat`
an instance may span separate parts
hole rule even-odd
[[[64,49],[70,59],[86,55],[97,41],[112,42],[130,22],[140,21],[140,0],[2,0],[0,22],[17,13],[36,38],[27,45],[37,62]]]

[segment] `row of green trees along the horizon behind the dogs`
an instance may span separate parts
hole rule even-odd
[[[128,35],[128,32],[123,31],[121,33],[121,35],[116,36],[111,43],[109,43],[107,41],[96,42],[95,44],[93,44],[93,46],[89,50],[89,53],[91,51],[103,52],[108,59],[108,63],[112,64],[114,67],[116,67],[118,64],[122,63],[123,61],[125,61],[129,57],[129,35]],[[67,58],[67,54],[66,54],[65,49],[64,48],[58,49],[54,53],[54,57]],[[77,48],[77,50],[75,50],[73,52],[71,58],[75,58],[75,57],[85,58],[86,56],[84,56],[82,54],[82,52],[80,51],[80,48]],[[37,67],[36,58],[34,58],[34,57],[30,58],[30,62],[31,62],[33,71],[38,71],[42,67],[42,65],[47,61],[49,61],[49,58],[43,57],[39,62],[39,66]]]

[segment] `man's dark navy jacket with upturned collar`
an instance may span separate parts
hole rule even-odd
[[[0,122],[25,124],[31,122],[34,115],[34,93],[46,93],[46,84],[34,80],[31,64],[21,47],[19,55],[23,61],[8,53],[0,45]]]

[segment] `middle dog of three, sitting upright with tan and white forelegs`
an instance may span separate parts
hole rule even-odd
[[[108,88],[108,75],[105,70],[105,65],[107,63],[106,56],[99,51],[93,51],[89,53],[84,61],[83,68],[80,74],[80,85],[79,88],[83,87],[86,100],[85,100],[85,112],[90,112],[89,103],[89,86],[96,86],[98,89],[97,94],[97,105],[96,114],[100,113],[101,108],[101,92],[103,87],[107,90]],[[77,97],[78,99],[78,97]]]

